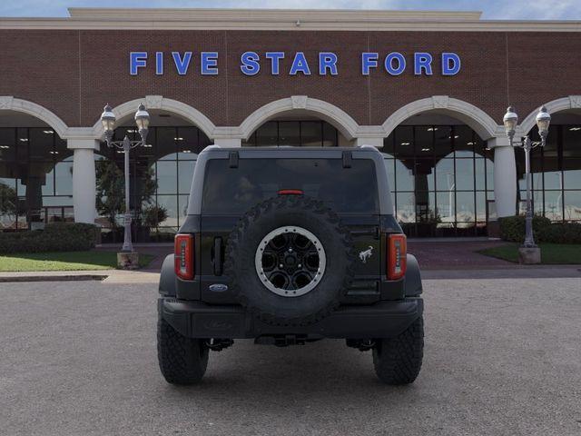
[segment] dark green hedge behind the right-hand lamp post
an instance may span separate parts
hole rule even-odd
[[[505,241],[525,240],[525,217],[500,218],[500,237]],[[533,235],[537,243],[581,243],[581,223],[551,223],[544,216],[533,216]]]

